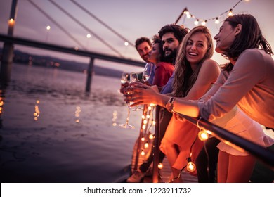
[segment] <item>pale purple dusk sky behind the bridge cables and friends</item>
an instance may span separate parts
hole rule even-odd
[[[72,3],[72,0],[51,0],[65,9],[68,13],[77,18],[87,29],[93,31],[89,32],[81,25],[77,24],[63,11],[55,6],[49,0],[31,0],[34,4],[39,6],[46,14],[50,15],[56,23],[60,24],[68,34],[71,34],[77,41],[89,51],[97,53],[105,53],[112,56],[119,56],[110,47],[106,46],[100,40],[93,36],[96,34],[101,39],[104,39],[107,44],[115,48],[125,58],[131,58],[141,61],[136,49],[133,46],[125,46],[125,40],[118,37],[109,29],[98,23],[84,12],[77,5]],[[188,8],[190,14],[196,18],[208,20],[219,17],[223,20],[227,17],[226,11],[233,8],[239,0],[75,0],[78,4],[86,8],[89,12],[99,18],[103,23],[107,24],[112,30],[115,30],[122,37],[126,38],[128,42],[134,43],[138,37],[151,38],[154,34],[159,32],[159,29],[167,24],[174,23],[185,7]],[[11,11],[11,0],[0,1],[0,33],[7,34],[8,32],[8,18]],[[235,8],[233,13],[250,13],[256,17],[263,35],[268,39],[270,45],[274,48],[274,18],[273,18],[273,0],[249,0],[241,1]],[[225,13],[221,15],[222,13]],[[221,15],[221,16],[220,16]],[[40,42],[48,42],[58,44],[61,46],[74,47],[79,46],[73,39],[60,30],[58,25],[41,13],[29,0],[18,0],[18,12],[15,18],[15,28],[13,35],[15,37],[24,37],[27,39],[34,39]],[[195,18],[186,18],[183,16],[179,20],[179,25],[185,25],[190,29],[195,27]],[[214,23],[214,20],[207,22],[207,27],[211,30],[212,37],[218,32],[221,26]],[[50,25],[51,29],[46,30],[46,26]],[[91,34],[91,38],[86,35]],[[2,44],[2,43],[1,43]],[[214,42],[215,44],[215,42]],[[79,48],[81,49],[81,46]],[[60,58],[67,58],[82,62],[89,62],[88,58],[80,58],[78,56],[66,55],[64,53],[56,53],[51,51],[43,51],[40,49],[28,48],[25,46],[15,46],[15,49],[25,51],[27,53],[36,53],[48,56],[58,56]],[[225,63],[226,60],[219,54],[214,54],[214,60],[218,63]],[[109,62],[96,61],[96,64],[115,67],[119,70],[132,69],[130,66],[115,65]]]

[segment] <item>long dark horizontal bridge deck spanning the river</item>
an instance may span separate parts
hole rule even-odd
[[[36,48],[40,48],[40,49],[47,49],[47,50],[51,50],[51,51],[58,51],[58,52],[63,52],[63,53],[70,53],[70,54],[74,54],[77,56],[86,56],[89,58],[98,58],[100,60],[104,60],[104,61],[112,61],[112,62],[116,62],[116,63],[124,63],[124,64],[129,64],[129,65],[136,65],[136,66],[140,66],[143,67],[144,63],[141,61],[133,61],[131,59],[127,59],[127,58],[119,58],[116,56],[108,56],[105,54],[101,54],[101,53],[94,53],[94,52],[90,52],[90,51],[83,51],[83,50],[76,50],[74,48],[68,48],[65,46],[58,46],[56,44],[48,44],[45,42],[37,42],[34,40],[30,40],[30,39],[25,39],[25,38],[19,38],[19,37],[11,37],[5,34],[0,34],[0,41],[1,42],[11,42],[13,44],[20,44],[20,45],[25,45],[25,46],[32,46],[32,47],[36,47]]]

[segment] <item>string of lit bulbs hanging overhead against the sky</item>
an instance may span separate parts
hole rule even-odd
[[[220,15],[215,16],[215,17],[213,17],[213,18],[206,18],[206,19],[196,17],[195,15],[193,15],[193,13],[190,13],[190,11],[188,10],[188,8],[185,8],[185,9],[183,10],[183,13],[182,13],[182,14],[180,15],[180,17],[176,20],[176,23],[178,23],[178,20],[181,18],[182,15],[185,15],[186,18],[188,18],[188,19],[193,18],[193,19],[194,19],[194,24],[195,24],[195,25],[199,25],[199,24],[201,24],[201,25],[206,25],[206,24],[207,24],[209,21],[211,21],[211,20],[214,20],[214,22],[215,22],[216,24],[218,24],[218,23],[220,23],[220,18],[221,18],[222,15],[225,15],[225,14],[226,14],[227,16],[233,15],[233,9],[234,9],[238,4],[240,4],[240,2],[242,2],[242,1],[248,2],[248,1],[250,1],[250,0],[240,0],[240,1],[238,1],[237,4],[235,4],[232,8],[229,8],[227,11],[224,11],[224,12],[221,13]]]

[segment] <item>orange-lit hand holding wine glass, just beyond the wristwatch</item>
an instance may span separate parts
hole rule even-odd
[[[154,103],[157,104],[159,91],[156,86],[148,86],[140,82],[133,82],[126,88],[124,101],[133,102],[131,106]]]

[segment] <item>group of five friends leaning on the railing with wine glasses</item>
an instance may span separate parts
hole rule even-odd
[[[189,30],[165,25],[150,39],[136,40],[136,50],[154,72],[146,83],[122,87],[131,106],[154,103],[159,110],[159,162],[167,157],[169,182],[183,182],[182,170],[191,158],[198,182],[249,182],[256,158],[215,137],[197,140],[200,128],[178,114],[202,117],[263,147],[274,140],[262,125],[274,128],[274,61],[270,44],[249,14],[224,20],[215,51],[228,60],[218,65],[211,57],[214,45],[208,28]],[[155,88],[157,87],[157,88]],[[141,182],[153,155],[131,174],[127,182]]]

